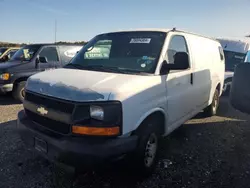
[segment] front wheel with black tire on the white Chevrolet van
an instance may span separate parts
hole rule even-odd
[[[139,141],[137,149],[132,155],[131,169],[141,177],[152,175],[158,162],[160,127],[157,122],[159,120],[150,118],[135,132]],[[150,158],[151,160],[149,160]]]

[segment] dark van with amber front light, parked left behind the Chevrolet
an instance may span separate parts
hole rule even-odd
[[[82,48],[79,45],[31,44],[19,49],[11,59],[0,64],[0,91],[12,92],[23,101],[29,76],[62,67]]]

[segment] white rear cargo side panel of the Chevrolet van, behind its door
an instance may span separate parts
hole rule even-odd
[[[223,85],[225,63],[220,57],[220,44],[214,40],[186,34],[192,51],[194,94],[200,106],[208,106],[212,102],[214,91],[219,83]]]

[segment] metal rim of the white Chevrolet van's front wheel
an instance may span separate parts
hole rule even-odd
[[[152,133],[149,136],[148,142],[146,144],[146,150],[144,155],[144,163],[146,167],[150,167],[155,160],[156,150],[157,150],[157,136],[155,133]]]

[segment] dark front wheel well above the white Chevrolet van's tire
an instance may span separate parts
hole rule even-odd
[[[163,114],[163,112],[161,111],[156,111],[153,112],[152,114],[148,115],[140,124],[140,126],[135,130],[135,132],[140,132],[141,129],[144,128],[144,126],[146,125],[145,122],[155,119],[157,121],[157,123],[159,123],[159,134],[163,135],[165,133],[165,115]]]

